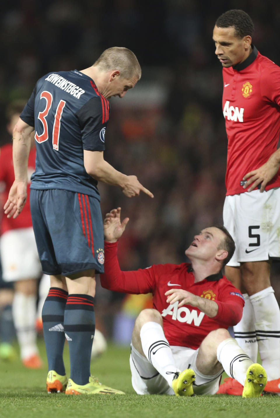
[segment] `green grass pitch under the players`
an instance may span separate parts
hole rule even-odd
[[[46,362],[43,342],[41,354]],[[109,345],[106,353],[92,362],[92,374],[106,385],[127,395],[66,396],[48,395],[47,367],[26,370],[20,361],[0,363],[0,418],[243,418],[279,417],[280,397],[242,399],[239,396],[138,396],[130,382],[129,348]],[[69,357],[65,350],[66,369]]]

